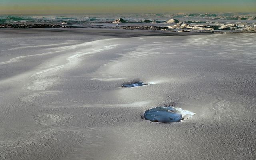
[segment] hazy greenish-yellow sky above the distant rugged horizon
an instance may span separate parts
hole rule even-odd
[[[256,12],[256,0],[0,0],[0,14]]]

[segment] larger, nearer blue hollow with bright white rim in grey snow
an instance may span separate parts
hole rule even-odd
[[[174,106],[169,107],[156,107],[150,110],[146,110],[143,114],[146,120],[150,120],[152,122],[180,122],[181,120],[190,118],[195,113],[182,110],[181,108],[177,108]]]

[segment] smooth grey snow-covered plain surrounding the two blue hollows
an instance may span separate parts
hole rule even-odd
[[[0,159],[253,160],[256,34],[159,35],[0,30]],[[196,114],[140,116],[173,102]]]

